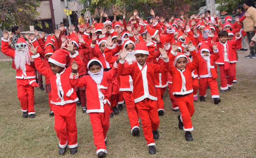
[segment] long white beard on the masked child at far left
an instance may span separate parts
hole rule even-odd
[[[15,49],[14,57],[16,69],[26,70],[26,64],[30,65],[29,47],[23,49]]]

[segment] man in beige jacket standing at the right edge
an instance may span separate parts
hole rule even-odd
[[[247,0],[244,2],[244,9],[247,10],[246,18],[244,19],[244,32],[246,32],[247,42],[250,44],[251,39],[255,35],[256,29],[256,9],[253,8],[254,2],[252,0]],[[245,58],[256,58],[256,44],[250,47],[250,55],[245,56]]]

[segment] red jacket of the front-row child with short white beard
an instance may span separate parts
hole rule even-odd
[[[113,68],[108,72],[103,72],[103,79],[100,84],[96,84],[90,75],[78,78],[79,74],[73,76],[71,84],[76,87],[86,86],[85,93],[87,98],[87,113],[90,112],[104,112],[104,104],[108,103],[110,106],[110,99],[108,98],[108,81],[113,80],[117,75],[117,63],[114,63]]]

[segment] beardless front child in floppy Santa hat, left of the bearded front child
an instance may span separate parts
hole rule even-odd
[[[74,44],[73,44],[74,45]],[[76,96],[75,87],[70,83],[70,73],[72,68],[66,66],[66,55],[73,58],[80,68],[84,68],[79,52],[73,51],[73,45],[67,44],[64,49],[58,49],[49,58],[51,69],[45,67],[37,54],[36,48],[32,47],[32,58],[35,60],[36,69],[44,76],[48,77],[52,91],[52,111],[54,112],[55,131],[59,138],[59,154],[63,155],[67,147],[70,154],[78,152],[77,127],[76,127]]]

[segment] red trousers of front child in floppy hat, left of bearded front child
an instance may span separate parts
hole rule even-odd
[[[52,106],[55,131],[61,148],[77,147],[76,102]]]

